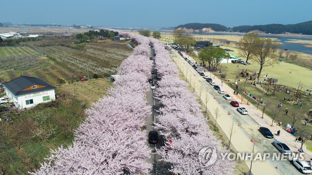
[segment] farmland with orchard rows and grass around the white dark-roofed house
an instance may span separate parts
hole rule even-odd
[[[39,168],[50,149],[70,145],[73,131],[85,118],[84,110],[113,86],[109,78],[78,81],[87,77],[88,70],[90,78],[94,73],[100,77],[115,73],[131,52],[126,43],[85,44],[80,50],[64,46],[0,47],[1,81],[21,74],[34,76],[58,85],[56,94],[60,95],[51,103],[20,113],[9,112],[13,125],[0,123],[1,171],[28,174]],[[3,119],[3,113],[0,118]]]

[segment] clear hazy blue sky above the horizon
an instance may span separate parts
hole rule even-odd
[[[15,0],[0,21],[102,27],[175,27],[199,22],[227,27],[312,20],[312,0]]]

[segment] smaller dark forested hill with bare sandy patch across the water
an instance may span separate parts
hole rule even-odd
[[[178,28],[186,28],[186,29],[194,29],[194,30],[202,30],[203,28],[211,28],[214,31],[228,31],[230,28],[226,26],[222,26],[220,24],[202,24],[202,23],[188,23],[184,25],[180,25],[176,27]]]

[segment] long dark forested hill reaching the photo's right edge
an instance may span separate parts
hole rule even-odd
[[[290,33],[302,33],[304,35],[312,35],[312,21],[301,22],[298,24],[268,24],[268,25],[256,25],[256,26],[237,26],[233,27],[234,32],[249,32],[253,30],[259,30],[266,33],[281,34],[285,32]]]

